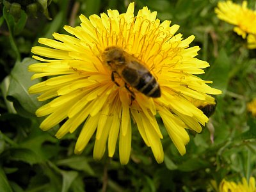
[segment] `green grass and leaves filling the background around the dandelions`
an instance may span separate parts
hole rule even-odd
[[[57,140],[56,130],[39,129],[41,119],[34,113],[42,103],[28,94],[36,82],[27,67],[35,63],[30,50],[39,37],[66,33],[63,26],[79,25],[81,13],[125,12],[129,1],[0,1],[0,191],[214,191],[211,180],[255,176],[256,122],[246,103],[256,97],[256,49],[246,49],[233,26],[216,17],[217,3],[136,1],[136,13],[148,6],[162,21],[179,24],[184,38],[196,36],[198,58],[211,65],[200,77],[214,81],[223,94],[216,97],[216,112],[204,131],[191,132],[186,155],[180,156],[164,133],[164,163],[157,164],[134,127],[131,160],[122,166],[117,153],[94,161],[93,141],[74,155],[77,132]],[[255,9],[255,1],[248,6]]]

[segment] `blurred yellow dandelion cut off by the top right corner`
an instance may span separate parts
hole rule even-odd
[[[215,13],[219,19],[233,24],[237,35],[243,38],[247,36],[248,49],[256,48],[256,11],[247,8],[247,1],[243,1],[241,5],[232,1],[221,1],[215,8]]]

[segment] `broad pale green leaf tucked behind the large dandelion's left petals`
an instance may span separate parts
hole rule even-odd
[[[36,60],[25,58],[22,62],[17,61],[15,63],[15,67],[11,72],[7,99],[14,102],[17,110],[24,109],[31,114],[35,114],[36,109],[42,106],[43,103],[38,102],[36,95],[30,95],[28,92],[28,88],[31,85],[39,83],[38,79],[31,81],[32,73],[28,72],[28,66],[32,63],[36,63]]]

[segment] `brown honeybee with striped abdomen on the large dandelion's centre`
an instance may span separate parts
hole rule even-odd
[[[131,88],[135,88],[148,97],[161,97],[160,86],[156,78],[138,59],[125,52],[124,49],[116,46],[108,47],[102,53],[102,59],[112,70],[111,80],[120,86],[115,81],[115,75],[120,77],[125,83],[125,88],[131,93],[132,100],[135,99],[135,95]]]

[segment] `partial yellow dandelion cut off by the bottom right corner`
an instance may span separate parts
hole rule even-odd
[[[249,183],[243,177],[242,182],[232,182],[223,179],[219,186],[219,192],[255,192],[255,178],[250,177]]]

